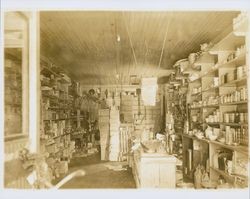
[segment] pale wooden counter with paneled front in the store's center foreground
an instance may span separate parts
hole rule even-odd
[[[174,156],[138,150],[134,153],[132,171],[138,188],[175,188]]]

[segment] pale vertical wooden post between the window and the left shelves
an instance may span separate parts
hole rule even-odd
[[[40,21],[39,12],[29,18],[29,141],[30,151],[40,148]]]

